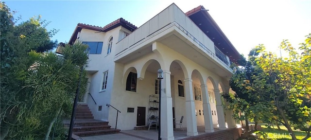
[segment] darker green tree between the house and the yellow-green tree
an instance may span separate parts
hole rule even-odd
[[[248,137],[249,127],[248,121],[255,122],[255,130],[257,129],[258,121],[271,117],[271,106],[262,100],[264,92],[269,92],[262,88],[266,75],[263,71],[256,69],[255,57],[257,49],[250,51],[248,61],[242,56],[239,60],[240,67],[236,67],[234,75],[231,77],[229,85],[233,91],[234,96],[223,95],[223,97],[230,103],[227,109],[234,111],[234,118],[237,120],[245,120],[245,133],[243,137]],[[265,84],[267,86],[267,84]],[[267,87],[266,87],[267,88]],[[266,110],[266,111],[262,111]],[[242,112],[242,115],[239,115]]]

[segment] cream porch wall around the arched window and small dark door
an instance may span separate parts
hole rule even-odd
[[[118,118],[117,128],[121,130],[132,130],[137,123],[137,107],[146,107],[145,124],[148,121],[149,95],[155,93],[156,73],[146,71],[145,77],[137,81],[137,92],[126,91],[126,79],[130,71],[136,72],[146,60],[155,59],[154,54],[142,57],[127,64],[116,63],[114,73],[114,87],[111,95],[111,105],[121,111]],[[127,113],[127,107],[133,107],[133,113]],[[109,110],[109,125],[115,126],[116,110]]]

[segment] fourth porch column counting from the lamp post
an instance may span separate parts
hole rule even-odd
[[[217,109],[219,129],[225,130],[227,128],[225,127],[225,114],[224,114],[224,108],[222,105],[221,95],[219,93],[219,89],[214,89],[214,92],[215,92],[215,98],[216,98],[216,109]]]

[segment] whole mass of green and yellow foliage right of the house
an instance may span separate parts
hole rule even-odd
[[[244,112],[255,121],[260,118],[282,123],[293,140],[296,138],[292,126],[308,131],[305,139],[309,138],[311,127],[304,127],[310,126],[311,121],[310,38],[311,34],[298,51],[288,40],[283,40],[280,49],[287,57],[266,52],[262,44],[253,49],[248,61],[241,61],[244,65],[236,68],[230,80],[236,94],[234,98],[225,96],[231,103],[228,107]]]

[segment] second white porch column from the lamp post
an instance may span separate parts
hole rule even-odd
[[[198,128],[195,117],[195,104],[193,100],[192,79],[185,79],[187,136],[197,136]]]

